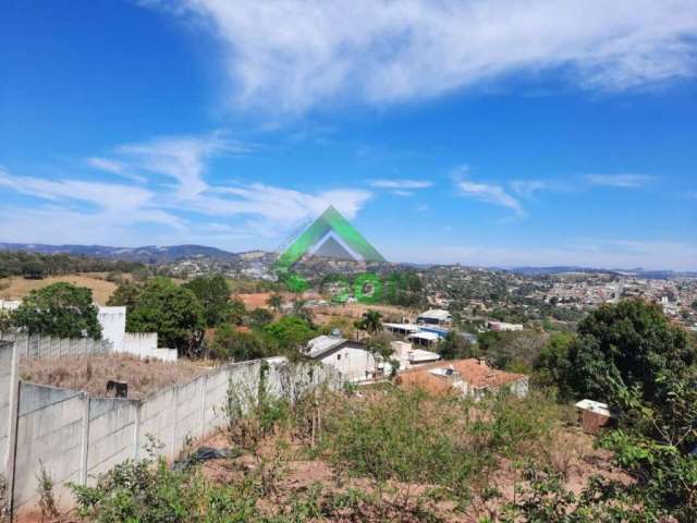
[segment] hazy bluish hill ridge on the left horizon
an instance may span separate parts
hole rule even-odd
[[[180,259],[209,258],[231,260],[237,255],[204,245],[145,245],[143,247],[109,247],[103,245],[47,245],[42,243],[0,243],[0,251],[25,251],[41,254],[70,254],[97,258],[122,259],[145,264],[170,264]]]

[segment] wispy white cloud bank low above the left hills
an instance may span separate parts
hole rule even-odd
[[[176,230],[180,241],[193,231],[199,241],[223,233],[230,238],[273,238],[330,205],[351,219],[372,196],[369,191],[351,187],[311,192],[254,182],[223,185],[206,179],[215,157],[247,150],[217,134],[170,136],[118,146],[112,154],[87,161],[102,171],[138,180],[135,183],[97,181],[95,177],[26,177],[0,167],[0,187],[38,198],[22,207],[3,206],[0,238],[15,238],[22,231],[25,240],[34,232],[30,241],[74,241],[78,230],[84,238],[94,238],[89,223],[95,231],[111,229],[113,238],[121,238],[129,226],[143,222]],[[196,219],[191,219],[192,214]],[[201,220],[200,216],[210,219]],[[221,229],[221,221],[231,217],[235,223]]]

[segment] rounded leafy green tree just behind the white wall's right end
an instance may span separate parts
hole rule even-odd
[[[130,332],[157,332],[162,346],[191,354],[203,340],[204,307],[196,295],[168,278],[145,283],[137,305],[126,316]]]

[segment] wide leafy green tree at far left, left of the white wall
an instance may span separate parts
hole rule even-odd
[[[60,338],[101,338],[91,290],[59,282],[29,292],[12,314],[15,327]]]

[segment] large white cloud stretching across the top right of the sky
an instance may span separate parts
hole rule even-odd
[[[340,97],[432,97],[508,75],[562,71],[586,88],[696,73],[694,0],[178,0],[222,44],[243,105],[298,112]]]

